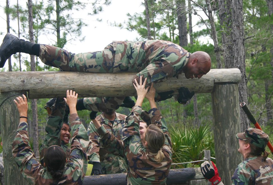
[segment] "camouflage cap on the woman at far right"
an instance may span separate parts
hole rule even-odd
[[[269,141],[269,136],[265,132],[250,127],[245,132],[236,134],[236,137],[240,140],[249,141],[259,148],[265,148]]]

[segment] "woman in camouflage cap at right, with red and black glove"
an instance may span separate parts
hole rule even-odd
[[[269,152],[265,147],[269,136],[256,128],[248,128],[242,133],[236,134],[239,140],[239,149],[243,156],[241,162],[233,173],[232,185],[272,185],[273,184],[273,160],[268,157]],[[218,170],[212,162],[214,169],[205,161],[201,164],[201,172],[212,185],[223,185]]]

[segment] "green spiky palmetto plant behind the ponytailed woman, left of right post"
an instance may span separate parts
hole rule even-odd
[[[210,126],[200,126],[199,128],[170,128],[172,138],[172,162],[190,162],[202,160],[204,150],[210,150],[210,155],[214,157],[213,132]],[[178,165],[178,167],[189,167],[197,165]]]

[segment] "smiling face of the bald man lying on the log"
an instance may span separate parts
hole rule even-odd
[[[210,62],[201,63],[198,59],[193,59],[184,67],[183,72],[187,79],[201,78],[210,71],[210,67]]]

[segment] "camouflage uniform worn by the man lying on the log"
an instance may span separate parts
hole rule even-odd
[[[94,73],[139,72],[147,83],[177,77],[190,53],[163,40],[113,41],[102,51],[73,54],[55,46],[40,45],[41,61],[64,71]]]

